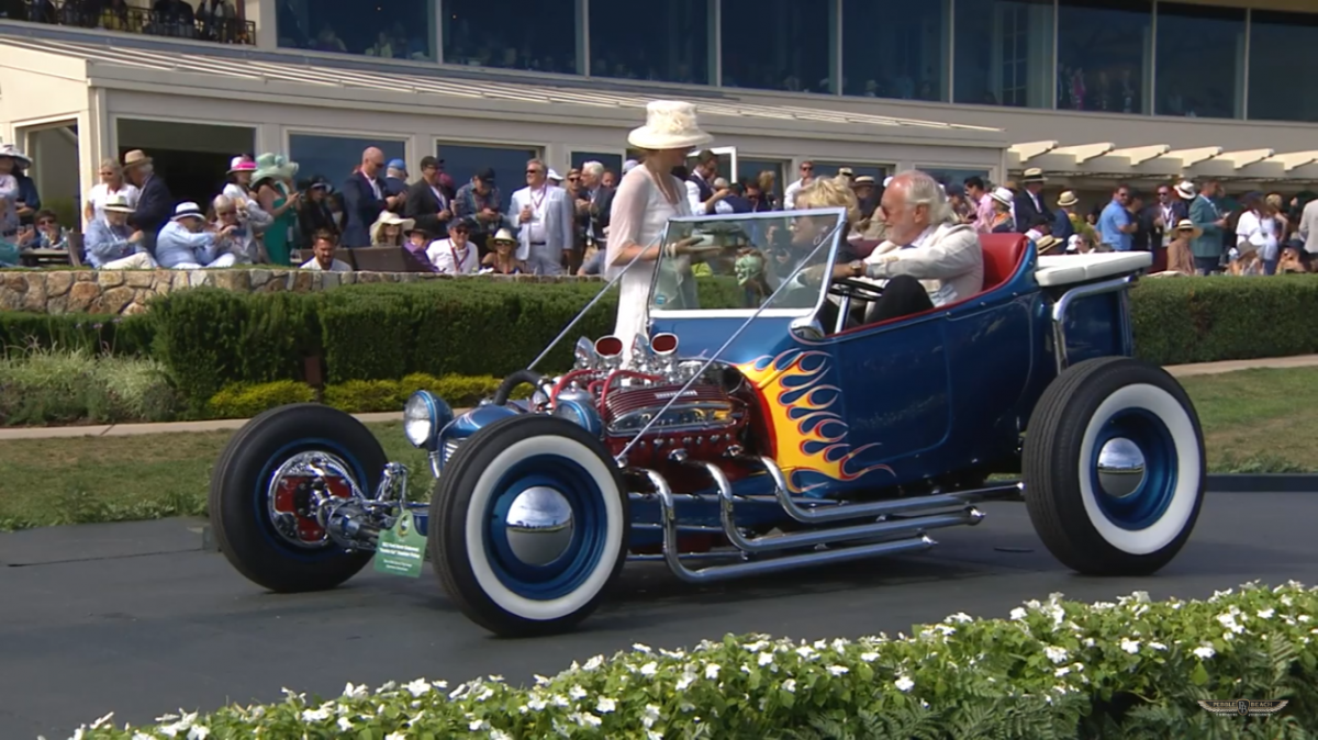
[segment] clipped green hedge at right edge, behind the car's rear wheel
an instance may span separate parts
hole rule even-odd
[[[1145,279],[1131,291],[1135,348],[1160,365],[1318,352],[1318,279]]]

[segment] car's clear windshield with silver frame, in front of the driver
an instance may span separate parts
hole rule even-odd
[[[803,280],[797,274],[778,288],[797,269],[816,278],[824,273],[845,217],[841,208],[820,208],[672,219],[650,290],[650,312],[749,315],[763,307],[808,315],[824,298],[817,279]]]

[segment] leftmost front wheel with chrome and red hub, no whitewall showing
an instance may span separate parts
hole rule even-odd
[[[320,591],[352,578],[370,552],[336,545],[315,520],[307,465],[322,458],[373,491],[387,463],[376,436],[352,416],[307,403],[273,408],[239,429],[211,474],[211,528],[220,552],[248,579],[279,593]],[[330,495],[349,498],[343,475]]]

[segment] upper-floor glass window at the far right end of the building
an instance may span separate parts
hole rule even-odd
[[[1255,11],[1249,33],[1249,117],[1318,121],[1318,14]]]

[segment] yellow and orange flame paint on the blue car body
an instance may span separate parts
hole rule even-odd
[[[842,388],[829,382],[832,365],[828,352],[789,349],[737,366],[768,402],[778,465],[792,492],[817,489],[828,479],[855,481],[875,470],[892,474],[887,465],[858,462],[875,445],[853,448],[849,442]]]

